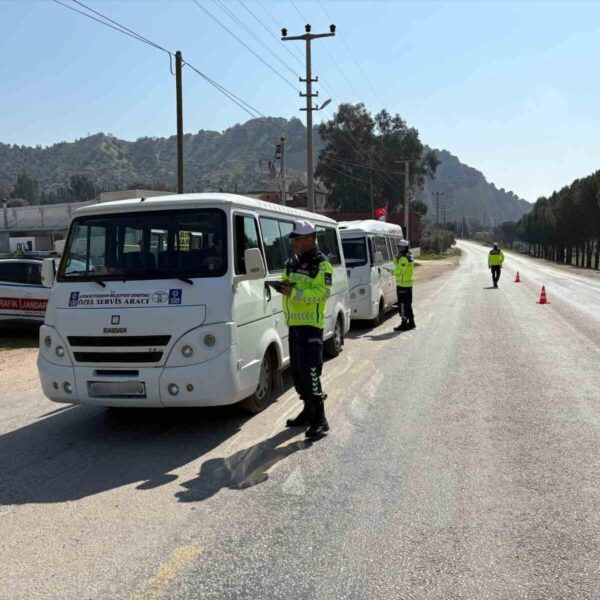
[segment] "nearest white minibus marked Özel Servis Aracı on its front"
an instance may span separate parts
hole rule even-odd
[[[55,402],[101,406],[269,403],[289,364],[278,279],[296,219],[334,267],[325,351],[350,326],[337,223],[233,194],[94,204],[74,213],[40,329],[38,369]]]

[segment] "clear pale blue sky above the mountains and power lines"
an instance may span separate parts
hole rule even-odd
[[[375,112],[383,102],[425,143],[530,201],[600,168],[600,2],[198,0],[290,85],[192,0],[83,1],[181,50],[261,113],[303,120],[293,89],[301,89],[303,48],[271,34],[282,26],[301,34],[305,18],[313,32],[328,31],[327,11],[338,35],[314,44],[313,66],[326,86],[317,86],[321,98],[334,95],[332,108],[362,101]],[[45,146],[98,131],[130,140],[174,133],[165,53],[52,0],[0,0],[0,22],[0,141]],[[184,69],[186,132],[248,118]]]

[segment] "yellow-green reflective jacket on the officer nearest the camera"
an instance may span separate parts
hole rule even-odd
[[[309,325],[323,329],[327,299],[331,294],[333,267],[317,248],[288,262],[281,281],[294,284],[290,296],[283,297],[283,312],[288,327]]]

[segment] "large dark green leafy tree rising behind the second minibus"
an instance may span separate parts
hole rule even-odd
[[[325,147],[315,174],[338,210],[370,210],[371,190],[373,204],[397,208],[404,203],[403,161],[411,161],[411,188],[433,178],[439,165],[435,152],[425,151],[419,132],[400,115],[382,110],[372,117],[364,104],[340,104],[319,134]]]

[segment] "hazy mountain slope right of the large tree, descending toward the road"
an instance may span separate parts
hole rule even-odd
[[[532,204],[513,192],[489,183],[483,173],[461,163],[447,150],[435,152],[440,160],[436,177],[427,180],[423,190],[415,193],[415,198],[429,207],[428,218],[435,220],[436,199],[433,192],[444,193],[440,196],[440,221],[442,206],[447,207],[447,221],[461,221],[464,216],[479,223],[518,221],[533,208]]]

